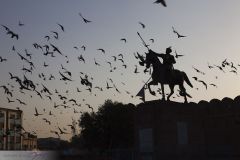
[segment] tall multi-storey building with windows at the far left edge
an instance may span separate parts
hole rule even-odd
[[[0,108],[0,150],[21,150],[22,111]]]

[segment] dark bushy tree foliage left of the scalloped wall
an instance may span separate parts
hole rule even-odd
[[[128,148],[134,145],[133,104],[106,100],[95,113],[81,115],[79,139],[88,149]]]

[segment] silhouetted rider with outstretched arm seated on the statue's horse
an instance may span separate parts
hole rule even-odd
[[[172,52],[171,47],[166,48],[166,54],[159,54],[152,51],[151,49],[149,50],[149,52],[153,52],[156,56],[163,59],[164,77],[166,78],[166,80],[170,80],[170,77],[173,77],[173,64],[176,63],[174,56],[170,54]]]

